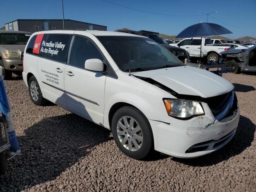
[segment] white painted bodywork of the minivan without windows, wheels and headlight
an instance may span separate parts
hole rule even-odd
[[[136,36],[133,34],[56,30],[36,32],[32,34],[30,39],[41,33],[76,34],[90,38],[116,72],[116,77],[112,77],[65,63],[59,65],[58,62],[24,52],[23,80],[28,86],[28,75],[33,74],[38,80],[44,98],[108,129],[111,127],[109,114],[113,106],[118,103],[134,106],[146,116],[151,125],[155,150],[180,158],[192,158],[213,152],[224,146],[234,136],[239,121],[239,108],[236,116],[228,122],[216,120],[208,104],[204,102],[201,102],[204,115],[195,116],[188,120],[173,118],[167,114],[163,99],[176,99],[176,97],[158,85],[140,78],[150,78],[179,94],[202,98],[218,96],[232,91],[234,86],[227,80],[211,72],[190,66],[162,68],[133,72],[132,74],[123,72],[96,36]],[[48,70],[55,70],[56,68],[63,70],[64,77],[59,79],[61,81],[59,87],[54,84],[50,85],[55,88],[46,86],[42,82],[45,78],[43,74],[40,74],[43,64],[44,68]],[[69,76],[70,72],[74,76]],[[55,73],[57,72],[55,71]],[[59,100],[62,95],[64,97],[61,103]],[[218,147],[214,147],[214,144],[225,136],[228,136],[228,140]],[[206,141],[210,141],[206,150],[186,152],[191,146]]]

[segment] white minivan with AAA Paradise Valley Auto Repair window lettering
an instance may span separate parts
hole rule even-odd
[[[46,100],[112,131],[135,159],[153,149],[179,158],[213,152],[235,135],[234,86],[185,66],[154,40],[121,32],[36,32],[24,51],[32,102]]]

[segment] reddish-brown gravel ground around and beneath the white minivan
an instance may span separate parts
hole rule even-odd
[[[240,122],[224,148],[195,159],[124,156],[111,132],[59,106],[36,106],[21,78],[6,81],[22,155],[8,162],[0,191],[256,192],[256,76],[224,74],[235,86]]]

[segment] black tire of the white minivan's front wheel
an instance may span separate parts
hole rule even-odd
[[[130,131],[128,129],[127,133],[125,133],[126,134],[125,136],[127,136],[129,138],[129,140],[130,139],[132,140],[130,142],[133,142],[132,146],[134,146],[134,148],[135,148],[135,144],[134,144],[135,136],[134,135],[138,136],[138,134],[140,134],[142,136],[142,142],[140,142],[139,140],[136,140],[136,143],[137,144],[140,143],[140,145],[141,145],[138,150],[134,149],[136,151],[131,151],[131,150],[128,150],[126,147],[124,147],[120,141],[120,138],[118,137],[117,131],[118,131],[118,129],[121,130],[121,128],[117,128],[117,124],[118,124],[118,121],[120,120],[120,118],[122,118],[124,116],[134,118],[134,120],[138,124],[135,122],[135,124],[133,124],[133,125],[137,125],[141,129],[141,131],[135,132],[135,134],[132,134],[133,129]],[[129,124],[130,124],[130,122],[129,122]],[[116,145],[125,155],[127,155],[131,158],[137,159],[137,160],[141,160],[141,159],[144,159],[146,156],[148,156],[148,154],[150,154],[150,152],[152,151],[153,146],[154,146],[153,133],[152,133],[150,123],[148,122],[148,119],[140,110],[138,110],[137,108],[131,107],[131,106],[124,106],[124,107],[118,109],[112,118],[111,125],[112,125],[112,134],[113,134],[114,140],[116,142]],[[122,137],[122,136],[120,136],[120,137]],[[128,143],[128,140],[127,140],[127,143]]]

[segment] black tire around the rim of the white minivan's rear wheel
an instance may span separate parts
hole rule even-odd
[[[31,84],[36,84],[36,87],[37,87],[37,92],[38,92],[38,96],[34,96],[34,98],[33,98],[33,96],[32,96],[32,93],[31,93]],[[35,85],[34,84],[34,85]],[[32,87],[32,89],[33,89],[33,87]],[[35,76],[31,76],[30,77],[30,79],[29,79],[29,81],[28,81],[28,92],[29,92],[29,96],[30,96],[30,99],[31,99],[31,101],[34,103],[34,104],[36,104],[36,105],[43,105],[43,104],[45,104],[46,103],[46,99],[45,98],[43,98],[43,96],[42,96],[42,92],[41,92],[41,89],[40,89],[40,86],[39,86],[39,84],[38,84],[38,81],[36,80],[36,77]]]

